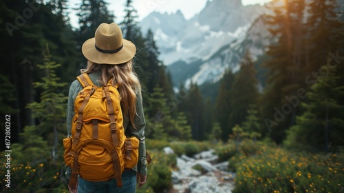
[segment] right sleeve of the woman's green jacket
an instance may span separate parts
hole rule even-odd
[[[128,129],[131,136],[136,136],[140,140],[138,149],[138,172],[147,175],[147,162],[146,162],[146,143],[144,141],[144,129],[146,128],[146,121],[144,119],[144,112],[142,107],[141,94],[136,95],[136,116],[134,118],[136,128],[129,124]]]

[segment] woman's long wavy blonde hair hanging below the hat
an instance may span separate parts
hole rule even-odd
[[[112,85],[118,85],[122,106],[122,113],[129,115],[129,121],[135,127],[134,117],[136,116],[136,94],[141,94],[141,84],[137,74],[133,71],[133,61],[118,65],[98,64],[92,61],[87,62],[87,69],[80,70],[81,73],[91,73],[100,71],[101,77],[98,83],[107,85],[112,79]]]

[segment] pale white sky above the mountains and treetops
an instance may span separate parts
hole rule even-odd
[[[126,0],[105,0],[109,3],[108,9],[114,13],[117,17],[115,22],[119,23],[122,21],[124,16],[124,5]],[[212,0],[133,0],[133,7],[136,8],[138,12],[138,20],[140,21],[144,17],[153,11],[157,12],[167,12],[175,13],[180,10],[184,15],[185,19],[190,19],[195,14],[199,13],[204,6],[206,6],[206,1]],[[231,1],[231,0],[228,0]],[[241,0],[244,6],[252,4],[261,4],[271,1],[271,0]],[[70,8],[78,8],[80,0],[70,0]],[[69,14],[72,26],[76,27],[78,23],[78,18],[75,16],[75,11]]]

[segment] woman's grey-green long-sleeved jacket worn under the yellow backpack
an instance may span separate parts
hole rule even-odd
[[[89,78],[92,82],[100,86],[97,79],[101,76],[101,72],[92,72]],[[67,136],[72,136],[72,119],[74,117],[74,101],[78,92],[83,90],[83,86],[78,80],[75,80],[69,88],[68,103],[67,103]],[[136,128],[129,124],[128,117],[123,119],[123,126],[125,128],[125,133],[129,133],[130,136],[136,136],[140,140],[140,147],[138,150],[138,165],[136,165],[133,170],[140,172],[140,174],[147,175],[147,162],[146,162],[146,143],[144,141],[144,128],[146,127],[146,121],[144,120],[144,113],[142,108],[142,96],[140,93],[136,95],[136,117],[134,119]],[[129,132],[127,131],[129,130]],[[69,176],[70,168],[67,168],[67,176]]]

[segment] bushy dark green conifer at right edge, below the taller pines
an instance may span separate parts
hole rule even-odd
[[[305,112],[288,131],[287,148],[329,152],[330,146],[344,145],[344,105],[339,102],[344,97],[344,87],[336,85],[336,79],[334,72],[329,72],[312,85],[309,103],[303,103]]]

